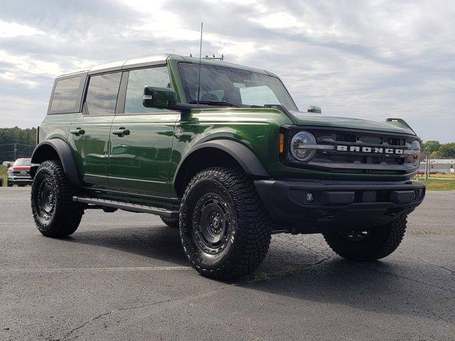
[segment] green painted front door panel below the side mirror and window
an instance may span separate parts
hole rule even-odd
[[[171,151],[178,112],[118,115],[112,129],[129,135],[111,135],[109,188],[131,193],[170,195]]]

